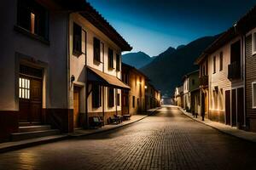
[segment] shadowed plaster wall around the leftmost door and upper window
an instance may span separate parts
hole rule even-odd
[[[0,37],[0,83],[1,111],[18,111],[19,98],[17,81],[19,77],[20,57],[37,63],[44,63],[47,71],[44,75],[44,105],[46,108],[67,108],[67,14],[49,13],[49,45],[39,42],[14,30],[17,24],[17,0],[2,2],[0,11],[3,17]],[[7,17],[8,16],[8,17]],[[17,57],[15,57],[17,56]],[[33,64],[33,62],[32,62]]]

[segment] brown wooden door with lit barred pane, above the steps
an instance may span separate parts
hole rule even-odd
[[[20,122],[41,122],[42,79],[19,78]]]

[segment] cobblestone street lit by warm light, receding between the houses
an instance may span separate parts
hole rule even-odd
[[[154,116],[87,137],[0,155],[0,169],[255,169],[256,144],[164,106]]]

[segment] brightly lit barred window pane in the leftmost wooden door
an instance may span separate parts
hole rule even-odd
[[[30,80],[19,78],[19,98],[30,99]]]

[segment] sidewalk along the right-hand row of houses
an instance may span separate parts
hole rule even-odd
[[[178,107],[177,108],[183,112],[184,115],[189,116],[191,119],[201,122],[209,127],[213,127],[217,129],[218,131],[226,134],[230,134],[232,136],[235,136],[236,138],[239,139],[245,139],[250,142],[255,142],[256,143],[256,133],[252,132],[247,132],[244,130],[237,129],[236,127],[230,127],[228,125],[225,125],[220,122],[212,122],[209,119],[205,118],[205,121],[201,120],[201,116],[197,116],[197,118],[193,117],[191,113],[184,111],[182,108]]]

